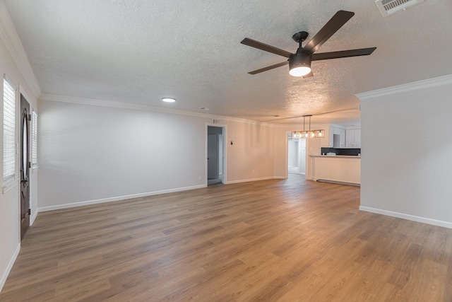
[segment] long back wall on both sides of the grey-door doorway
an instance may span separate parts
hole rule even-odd
[[[40,210],[205,186],[206,122],[212,119],[40,100]],[[227,182],[273,178],[273,128],[220,122]]]

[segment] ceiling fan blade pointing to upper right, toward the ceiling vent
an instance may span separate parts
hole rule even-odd
[[[352,11],[338,11],[333,18],[328,21],[319,33],[317,33],[308,44],[303,47],[303,50],[309,53],[314,53],[323,45],[335,32],[338,31],[347,21],[355,15]]]

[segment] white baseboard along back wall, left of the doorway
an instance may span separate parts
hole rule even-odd
[[[199,189],[201,187],[206,187],[206,185],[194,185],[192,187],[178,187],[176,189],[160,190],[160,191],[146,192],[146,193],[139,193],[139,194],[130,194],[130,195],[109,197],[109,198],[103,198],[103,199],[94,199],[94,200],[88,200],[85,202],[72,202],[70,204],[57,204],[55,206],[40,207],[37,209],[37,211],[38,212],[54,211],[54,210],[58,210],[58,209],[69,209],[69,208],[73,208],[73,207],[82,207],[82,206],[87,206],[89,204],[102,204],[103,202],[117,202],[119,200],[124,200],[124,199],[132,199],[132,198],[146,197],[146,196],[152,196],[152,195],[157,195],[157,194],[194,190],[194,189]]]

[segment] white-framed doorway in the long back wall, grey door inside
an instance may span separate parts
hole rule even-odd
[[[207,185],[225,180],[225,127],[207,127]]]

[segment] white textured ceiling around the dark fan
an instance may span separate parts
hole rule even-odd
[[[452,1],[425,0],[383,18],[374,0],[4,0],[42,93],[112,100],[278,124],[359,124],[356,93],[452,74]],[[355,12],[318,52],[377,47],[367,57],[248,71],[285,58],[338,10]],[[163,96],[177,103],[161,102]],[[208,108],[208,111],[198,108]],[[280,117],[273,117],[279,115]]]

